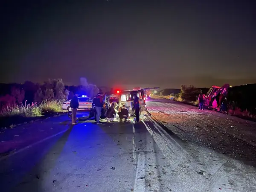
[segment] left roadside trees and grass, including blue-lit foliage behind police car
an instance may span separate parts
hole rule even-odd
[[[62,103],[73,97],[73,91],[90,97],[99,92],[96,85],[87,83],[86,78],[81,78],[77,87],[65,86],[62,79],[49,79],[44,84],[30,81],[24,84],[1,84],[0,89],[0,127],[9,126],[7,121],[13,124],[16,119],[26,120],[64,112]]]

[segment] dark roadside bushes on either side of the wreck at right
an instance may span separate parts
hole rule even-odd
[[[228,114],[256,119],[256,99],[253,90],[256,84],[246,84],[230,87],[227,95]],[[209,88],[196,88],[193,85],[181,85],[180,90],[164,89],[160,90],[156,96],[183,102],[190,105],[198,105],[199,93],[207,93]]]

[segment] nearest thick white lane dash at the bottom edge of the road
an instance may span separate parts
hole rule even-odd
[[[138,155],[134,192],[145,192],[145,172],[145,154],[140,153]]]

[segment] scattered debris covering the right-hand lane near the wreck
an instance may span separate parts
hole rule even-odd
[[[195,107],[176,102],[154,103],[148,105],[148,111],[181,140],[256,166],[255,122],[212,111],[201,113]]]

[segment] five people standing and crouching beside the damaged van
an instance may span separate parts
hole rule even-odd
[[[77,109],[79,108],[79,100],[78,100],[78,93],[75,93],[73,98],[70,101],[70,108],[72,110],[72,125],[76,125],[76,112]],[[102,114],[102,109],[103,109],[103,96],[104,93],[100,92],[97,94],[97,96],[93,99],[93,106],[95,106],[95,111],[96,111],[96,121],[98,125],[101,125],[102,123],[100,122],[100,117]],[[136,114],[136,121],[140,121],[140,99],[139,97],[134,94],[133,95],[133,102],[134,102],[134,109],[135,109],[135,114]],[[122,105],[121,108],[119,108],[118,111],[116,111],[117,103],[112,102],[111,106],[108,108],[106,118],[108,119],[108,122],[111,121],[113,122],[113,119],[116,118],[116,114],[118,114],[120,122],[122,122],[122,119],[126,122],[127,119],[129,118],[129,112],[128,109],[126,108],[125,105]]]

